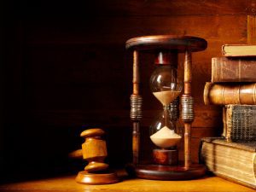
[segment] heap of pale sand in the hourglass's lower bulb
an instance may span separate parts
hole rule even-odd
[[[181,140],[181,136],[177,135],[177,133],[170,130],[167,126],[164,126],[160,131],[150,136],[150,139],[159,148],[170,148],[177,145]]]

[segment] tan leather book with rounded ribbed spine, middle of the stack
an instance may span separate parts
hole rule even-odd
[[[204,89],[206,105],[256,104],[256,83],[218,84],[207,82]]]

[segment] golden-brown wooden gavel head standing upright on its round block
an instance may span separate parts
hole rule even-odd
[[[85,138],[82,144],[83,158],[89,164],[84,167],[87,172],[100,172],[108,169],[108,164],[104,163],[107,157],[106,142],[102,140],[105,132],[102,129],[90,129],[83,131],[80,136]]]

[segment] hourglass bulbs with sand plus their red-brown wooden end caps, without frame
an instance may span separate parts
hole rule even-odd
[[[160,51],[155,61],[156,68],[150,78],[150,89],[163,105],[163,112],[154,120],[149,132],[151,141],[158,147],[153,152],[154,162],[160,165],[177,164],[176,146],[182,138],[181,131],[177,130],[177,118],[173,118],[174,115],[169,111],[171,102],[177,99],[183,88],[183,84],[177,81],[175,55],[177,54]],[[162,61],[163,57],[172,58],[172,61]]]

